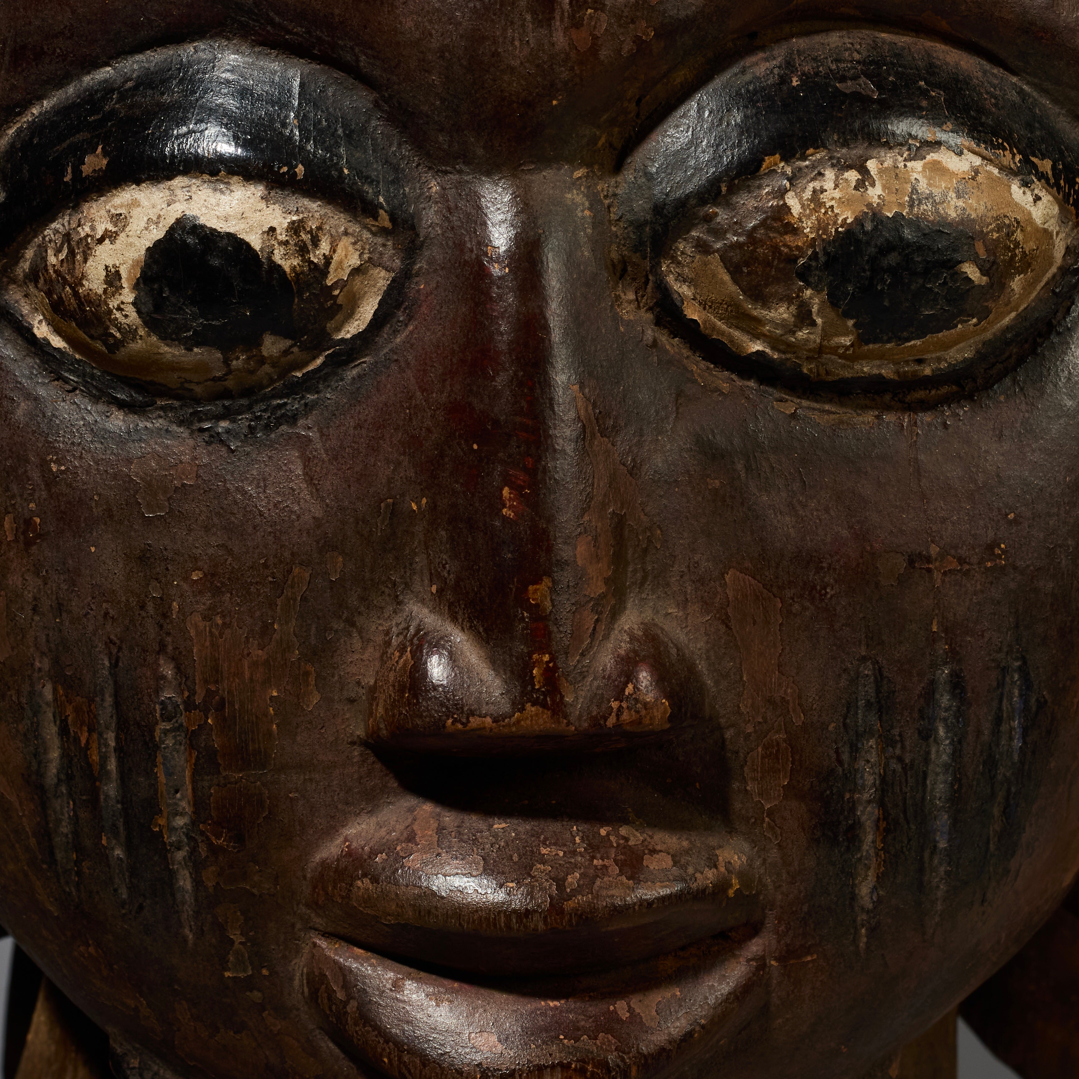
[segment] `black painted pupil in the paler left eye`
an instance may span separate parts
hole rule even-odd
[[[246,240],[185,214],[151,244],[135,283],[146,327],[188,349],[255,347],[293,336],[296,293],[285,271]]]

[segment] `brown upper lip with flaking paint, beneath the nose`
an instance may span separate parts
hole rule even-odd
[[[412,796],[316,860],[309,905],[322,932],[481,975],[610,969],[763,910],[754,852],[722,832],[537,823]]]

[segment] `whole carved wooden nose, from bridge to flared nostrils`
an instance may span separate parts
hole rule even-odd
[[[475,434],[453,443],[469,481],[433,534],[452,569],[434,599],[413,593],[368,694],[368,740],[386,748],[616,747],[707,709],[644,603],[660,532],[591,404],[625,346],[613,301],[597,305],[605,208],[569,170],[522,175],[456,195],[456,273],[479,282],[453,372],[469,408],[448,418]]]

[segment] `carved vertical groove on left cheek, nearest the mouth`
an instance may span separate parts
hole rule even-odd
[[[188,773],[188,722],[177,689],[176,671],[163,666],[158,699],[158,796],[161,816],[154,820],[168,849],[173,894],[183,934],[194,934],[194,888],[191,876],[191,783]]]

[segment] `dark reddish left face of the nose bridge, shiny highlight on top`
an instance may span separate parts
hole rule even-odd
[[[472,536],[460,536],[452,552],[462,568],[461,607],[450,616],[474,636],[472,651],[486,653],[494,673],[489,687],[495,681],[500,686],[495,710],[557,711],[558,680],[548,669],[557,665],[549,633],[555,555],[546,491],[548,459],[557,450],[546,388],[543,227],[531,186],[519,177],[479,177],[470,187],[466,235],[476,246],[465,273],[473,268],[479,310],[463,359],[470,369],[466,392],[475,395],[487,429],[473,443],[482,487],[469,509]],[[468,574],[482,584],[464,579]]]

